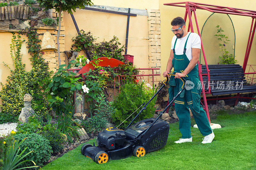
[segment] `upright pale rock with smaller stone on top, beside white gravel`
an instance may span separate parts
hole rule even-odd
[[[28,118],[32,115],[35,115],[35,111],[31,108],[31,100],[32,96],[30,94],[24,95],[24,107],[21,109],[21,113],[19,116],[19,121],[22,123],[27,123]]]

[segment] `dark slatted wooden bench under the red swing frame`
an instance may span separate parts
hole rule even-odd
[[[256,86],[246,84],[242,66],[239,64],[208,65],[210,70],[210,92],[212,96],[256,92]],[[202,65],[202,74],[206,74]],[[204,89],[208,91],[208,80],[204,78]]]

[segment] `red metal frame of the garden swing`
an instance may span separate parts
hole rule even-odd
[[[243,70],[244,70],[244,74],[247,74],[247,75],[248,74],[256,74],[256,72],[254,70],[253,70],[254,72],[250,73],[250,69],[249,69],[248,73],[245,73],[248,58],[249,58],[249,54],[250,54],[250,50],[251,50],[251,47],[252,47],[252,40],[253,40],[253,36],[254,36],[254,33],[255,33],[255,29],[256,29],[256,19],[255,19],[256,18],[256,11],[239,9],[239,8],[230,8],[230,7],[219,6],[219,5],[195,3],[195,2],[166,3],[164,5],[185,7],[186,11],[185,11],[184,20],[186,21],[187,17],[188,17],[188,20],[189,20],[188,31],[191,29],[191,32],[194,32],[193,24],[192,24],[192,13],[194,13],[194,18],[195,18],[195,22],[196,22],[196,29],[197,29],[197,33],[200,36],[200,38],[201,38],[201,35],[200,35],[200,31],[199,31],[199,27],[198,27],[198,23],[197,23],[197,19],[196,19],[196,9],[206,10],[206,11],[210,11],[210,12],[214,12],[214,13],[232,14],[232,15],[241,15],[241,16],[252,17],[252,24],[251,24],[251,29],[250,29],[250,32],[249,32],[249,39],[248,39],[248,43],[247,43],[247,47],[246,47],[246,51],[245,51],[245,56],[244,56]],[[253,26],[253,23],[254,23],[254,26]],[[200,63],[198,61],[199,78],[200,78],[201,82],[203,82],[203,79],[205,79],[205,78],[207,78],[208,82],[210,82],[210,74],[209,74],[210,71],[208,69],[208,65],[207,65],[207,61],[206,61],[202,41],[201,41],[201,48],[202,48],[202,53],[203,53],[203,56],[204,56],[204,62],[205,62],[207,73],[202,74],[202,65],[200,65]],[[250,68],[251,68],[251,66],[252,65],[250,65]],[[210,88],[208,88],[208,91],[205,90],[204,87],[202,88],[204,104],[202,102],[201,102],[201,104],[203,105],[203,108],[206,112],[209,123],[211,124],[210,117],[209,117],[208,106],[207,106],[207,101],[206,101],[206,96],[205,96],[205,94],[210,94],[210,93],[211,93]],[[237,103],[238,98],[249,98],[249,97],[240,97],[239,93],[238,93],[235,97],[226,97],[226,98],[222,98],[222,99],[227,99],[227,98],[236,98],[236,103]],[[252,99],[252,98],[249,98],[249,99]]]

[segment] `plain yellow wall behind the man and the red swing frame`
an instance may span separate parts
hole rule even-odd
[[[175,6],[167,6],[163,5],[164,3],[172,3],[175,1],[168,1],[168,0],[159,0],[159,9],[161,12],[161,72],[165,71],[167,60],[170,55],[171,50],[171,41],[173,37],[173,33],[170,31],[171,29],[171,21],[175,17],[182,17],[184,18],[185,15],[185,8],[184,7],[175,7]],[[177,1],[180,2],[180,1]],[[228,6],[228,7],[234,7],[234,8],[240,8],[240,9],[248,9],[248,10],[255,10],[256,9],[256,3],[254,0],[248,0],[246,3],[241,3],[240,1],[223,1],[223,0],[216,0],[216,1],[210,1],[210,0],[195,0],[193,2],[199,2],[204,4],[214,4],[214,5],[220,5],[220,6]],[[240,2],[240,3],[239,3]],[[206,19],[211,15],[212,13],[205,10],[196,10],[196,17],[199,25],[199,30],[201,32],[202,27],[204,25],[204,22]],[[225,15],[225,14],[223,14]],[[236,60],[238,61],[237,64],[240,64],[243,66],[244,62],[244,55],[245,50],[247,46],[247,41],[249,37],[249,31],[250,26],[252,22],[252,18],[250,17],[244,17],[244,16],[236,16],[236,15],[229,15],[235,28],[236,33],[236,49],[235,49],[235,56]],[[221,19],[221,18],[220,18]],[[192,17],[192,21],[195,20],[194,17]],[[188,18],[187,18],[188,23]],[[212,25],[215,27],[216,25]],[[194,32],[197,33],[196,30],[196,24],[193,22]],[[188,28],[188,24],[187,24]],[[226,30],[227,31],[227,30]],[[211,35],[213,36],[213,35]],[[204,44],[204,42],[203,42]],[[254,36],[254,40],[252,43],[252,49],[249,56],[248,64],[256,64],[256,39]],[[211,53],[212,46],[204,46],[205,51],[208,50],[209,53]],[[213,64],[213,60],[210,58],[212,56],[206,56],[208,57],[209,62],[208,64]],[[218,56],[217,56],[218,57]]]

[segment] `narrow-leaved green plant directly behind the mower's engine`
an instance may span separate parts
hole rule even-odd
[[[93,116],[93,112],[95,115]],[[95,103],[90,107],[91,117],[82,122],[85,131],[89,133],[98,133],[106,127],[107,119],[114,112],[112,102],[107,102],[104,94],[97,96]]]

